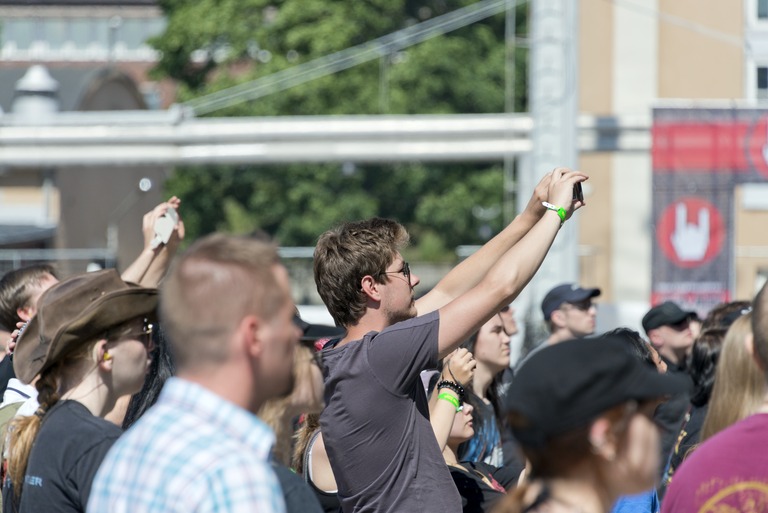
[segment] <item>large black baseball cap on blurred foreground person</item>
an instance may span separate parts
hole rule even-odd
[[[512,431],[521,445],[542,447],[550,438],[588,426],[614,406],[686,390],[685,378],[661,374],[611,337],[547,346],[520,367],[505,401],[517,413]]]

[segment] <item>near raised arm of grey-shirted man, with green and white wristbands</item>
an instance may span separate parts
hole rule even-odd
[[[552,171],[548,202],[571,214],[582,203],[573,200],[573,186],[587,176],[578,171],[557,168]],[[544,261],[560,229],[560,216],[547,210],[527,234],[506,251],[471,290],[440,308],[440,355],[453,351],[469,334],[512,302]]]

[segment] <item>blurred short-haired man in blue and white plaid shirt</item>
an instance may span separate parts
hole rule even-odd
[[[254,414],[290,391],[300,336],[276,249],[202,239],[163,283],[160,312],[178,376],[109,452],[88,511],[285,511],[274,435]]]

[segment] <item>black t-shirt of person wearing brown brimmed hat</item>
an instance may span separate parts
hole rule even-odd
[[[77,401],[59,401],[43,419],[24,476],[19,513],[84,512],[93,477],[122,430]],[[3,513],[12,513],[10,480]]]

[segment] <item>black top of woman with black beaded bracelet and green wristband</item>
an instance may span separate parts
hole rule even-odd
[[[491,511],[496,503],[504,497],[504,488],[513,483],[500,483],[493,472],[496,467],[482,462],[463,461],[462,466],[466,470],[449,467],[451,477],[461,495],[463,513],[483,513]],[[496,487],[489,486],[483,479],[485,476]]]

